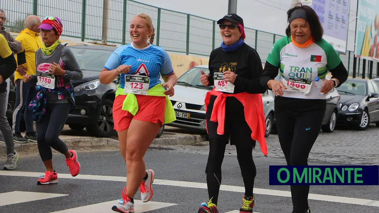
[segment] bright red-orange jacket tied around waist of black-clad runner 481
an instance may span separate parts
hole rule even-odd
[[[252,130],[251,138],[258,141],[261,151],[267,156],[267,145],[265,139],[266,122],[265,114],[263,112],[262,95],[250,94],[247,92],[226,94],[213,89],[207,92],[207,95],[205,96],[205,111],[207,111],[211,95],[217,96],[215,103],[213,104],[210,119],[213,122],[218,122],[217,134],[224,134],[225,101],[227,96],[233,96],[237,98],[244,106],[246,122]]]

